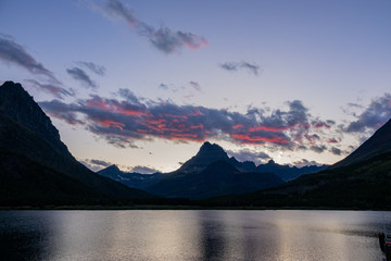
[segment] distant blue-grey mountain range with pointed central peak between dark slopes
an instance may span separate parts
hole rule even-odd
[[[256,166],[253,162],[239,162],[234,157],[229,158],[220,146],[206,141],[194,157],[172,173],[125,173],[112,165],[98,174],[163,197],[204,199],[275,187],[285,183],[281,177],[294,178],[326,167],[299,169],[273,161]]]

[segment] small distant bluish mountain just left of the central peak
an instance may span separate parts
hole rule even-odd
[[[162,173],[140,174],[140,173],[122,172],[116,165],[108,166],[106,169],[101,170],[97,173],[99,175],[122,183],[128,187],[138,188],[142,190],[154,185],[165,176]]]

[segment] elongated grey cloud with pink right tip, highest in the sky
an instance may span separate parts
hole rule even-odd
[[[140,36],[146,37],[153,47],[164,53],[177,52],[184,47],[197,50],[202,46],[207,46],[205,38],[192,33],[174,32],[166,26],[159,29],[153,28],[138,20],[134,11],[118,0],[106,0],[103,12],[110,16],[124,20],[131,28],[136,28]]]

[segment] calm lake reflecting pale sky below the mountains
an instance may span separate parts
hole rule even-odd
[[[373,211],[0,211],[0,260],[383,260]]]

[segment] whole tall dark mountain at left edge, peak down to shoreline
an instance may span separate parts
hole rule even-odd
[[[12,82],[0,86],[0,153],[1,204],[150,197],[79,163],[33,97]]]

